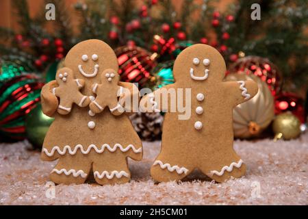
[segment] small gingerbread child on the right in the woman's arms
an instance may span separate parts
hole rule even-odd
[[[105,70],[101,75],[101,83],[95,83],[92,91],[97,97],[90,103],[90,110],[94,114],[102,112],[109,107],[112,114],[123,114],[124,108],[118,102],[118,96],[123,95],[123,87],[118,86],[118,74],[112,69]]]

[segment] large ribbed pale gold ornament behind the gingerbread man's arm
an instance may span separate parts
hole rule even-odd
[[[233,109],[233,132],[236,138],[253,138],[270,125],[274,119],[274,97],[268,85],[255,75],[230,74],[226,81],[254,80],[259,91],[253,99]]]

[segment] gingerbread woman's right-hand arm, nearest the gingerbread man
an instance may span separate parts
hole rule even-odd
[[[118,102],[123,105],[125,112],[138,112],[140,93],[137,86],[123,81],[118,86]]]

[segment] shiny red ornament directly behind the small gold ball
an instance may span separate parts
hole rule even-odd
[[[296,94],[283,92],[275,96],[275,114],[290,111],[301,123],[305,123],[304,100]]]

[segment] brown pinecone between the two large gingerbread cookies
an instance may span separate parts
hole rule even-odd
[[[159,113],[136,113],[129,117],[141,140],[155,141],[162,139],[164,116]]]

